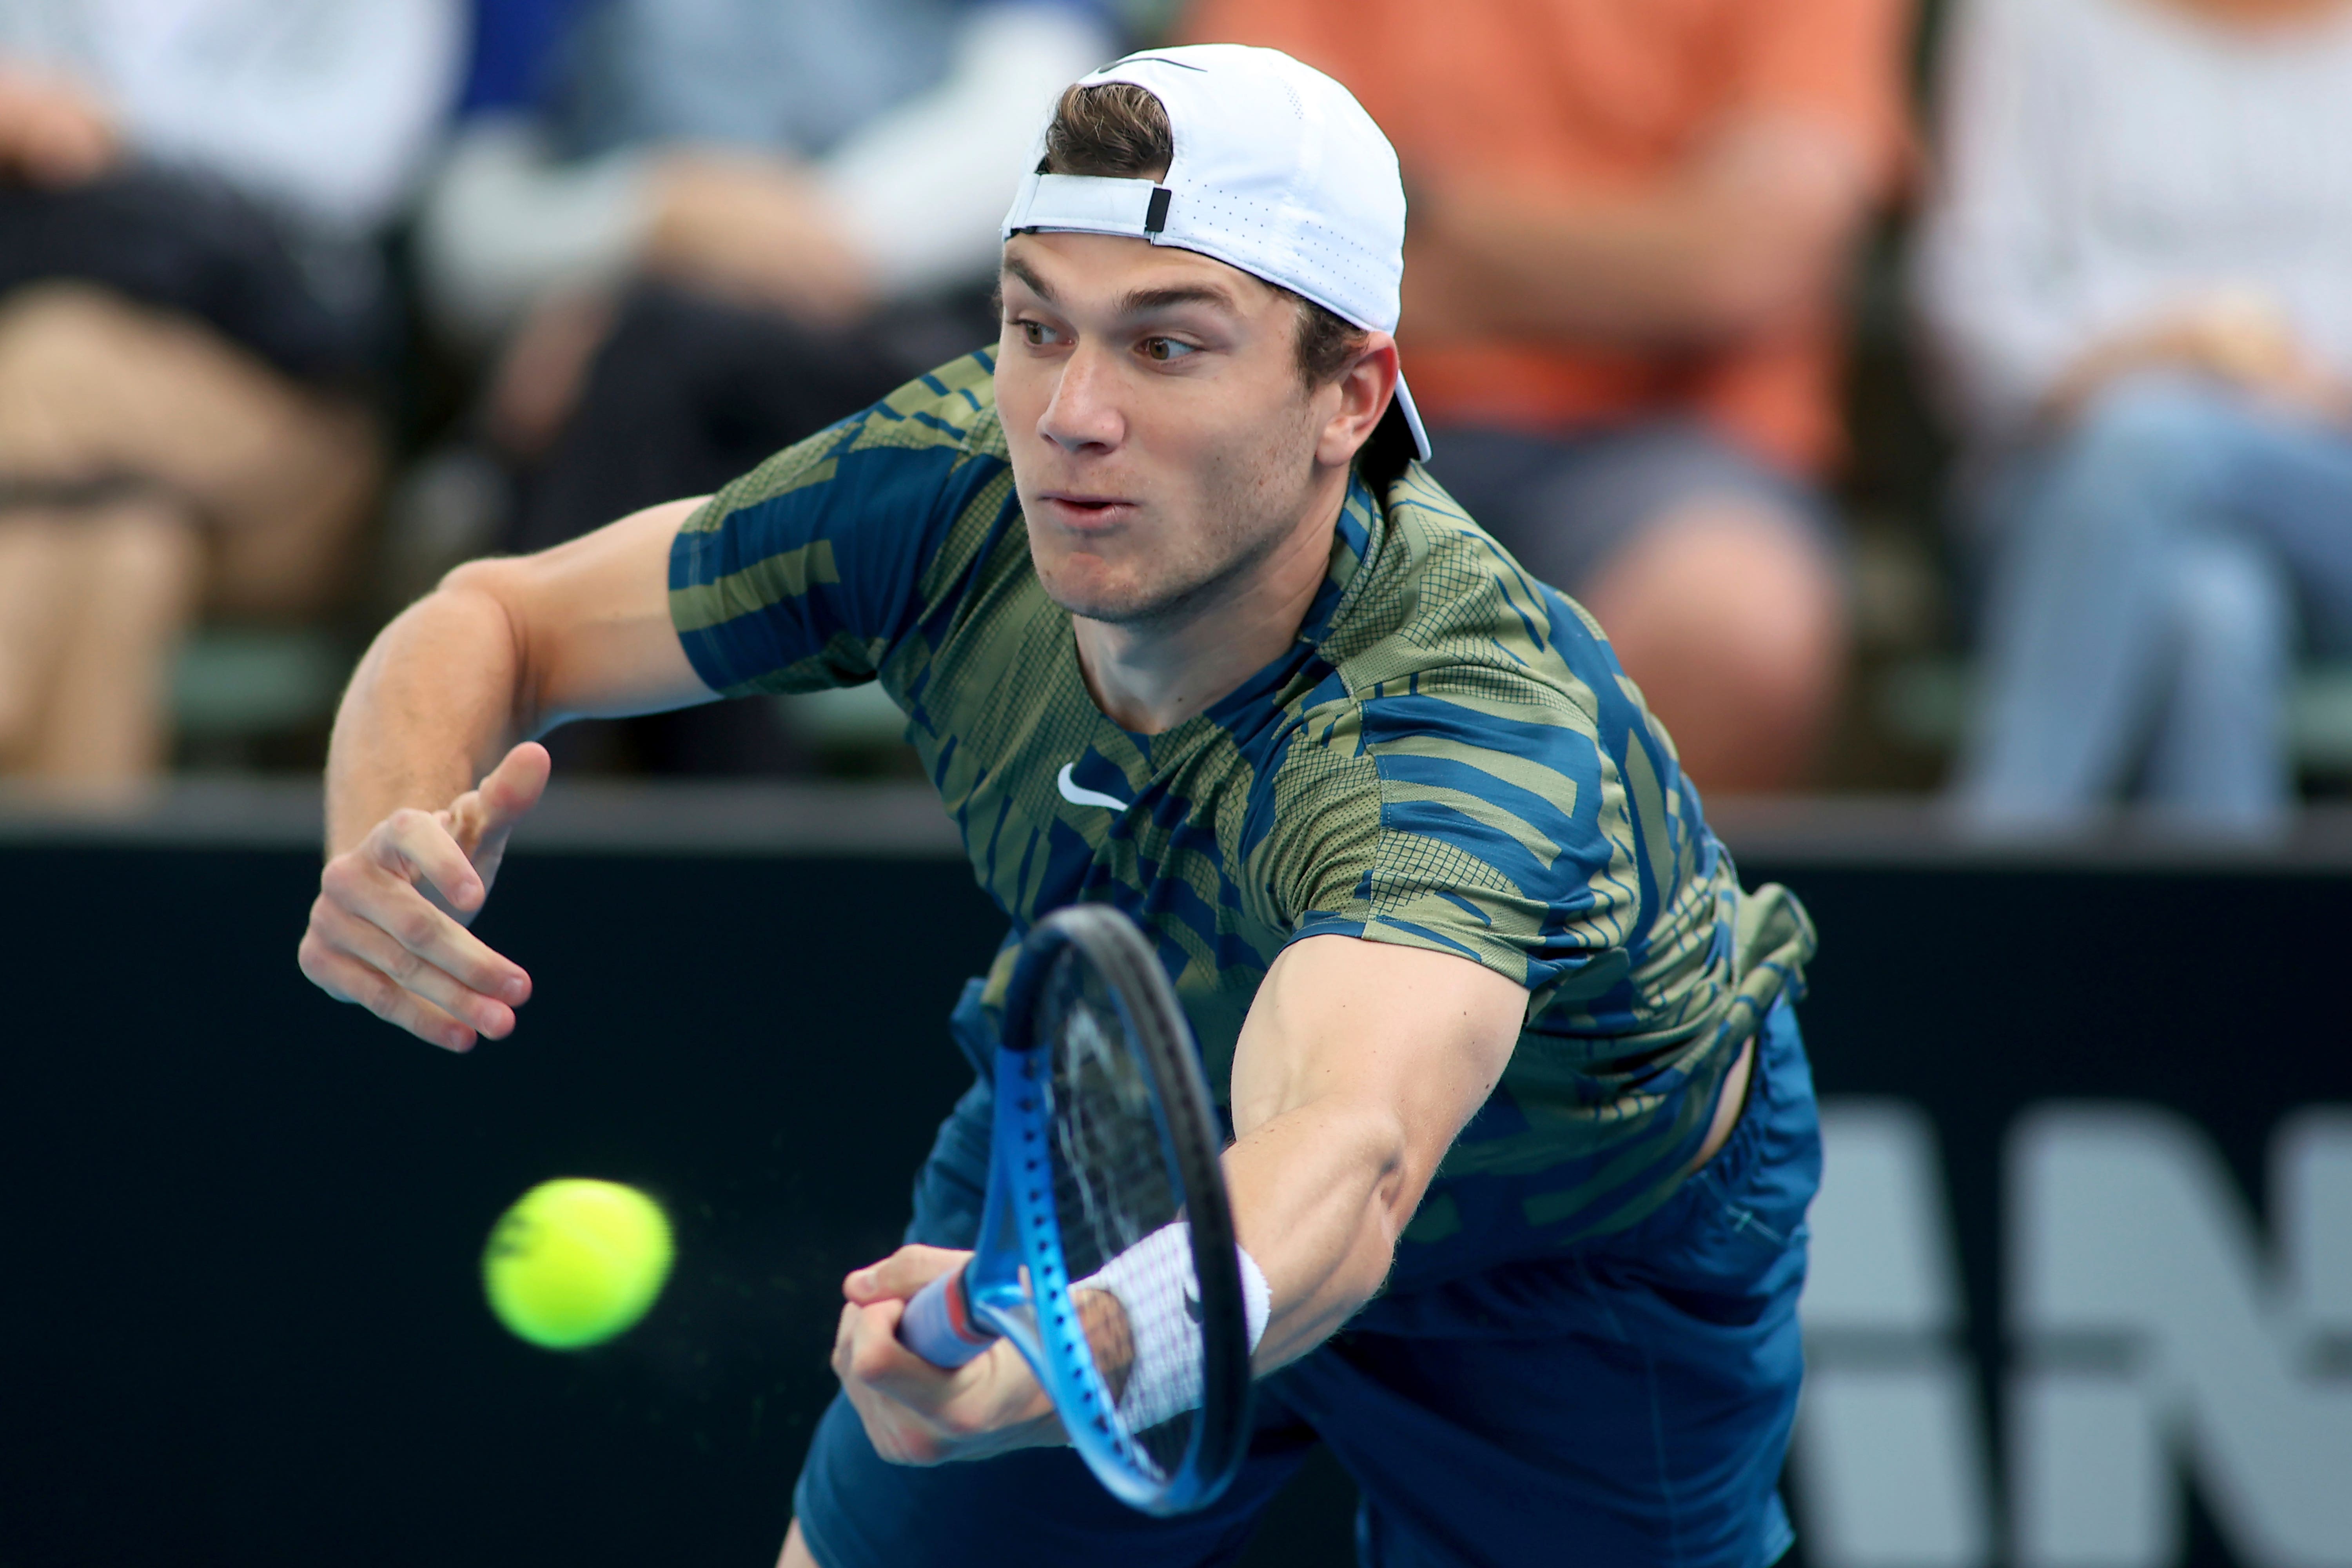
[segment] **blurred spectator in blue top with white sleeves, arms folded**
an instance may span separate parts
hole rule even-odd
[[[515,550],[715,489],[995,341],[1009,169],[1117,52],[1108,0],[569,9],[534,108],[461,132],[423,226],[435,315],[499,343],[485,433],[529,475]],[[760,705],[560,745],[656,771],[788,759]]]

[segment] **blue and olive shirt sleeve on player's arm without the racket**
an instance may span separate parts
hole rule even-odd
[[[875,679],[955,562],[1009,515],[988,355],[969,355],[788,447],[713,496],[670,545],[670,621],[713,691]],[[971,524],[957,531],[957,524]]]

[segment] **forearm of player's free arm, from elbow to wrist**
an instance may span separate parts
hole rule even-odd
[[[442,588],[367,649],[327,750],[327,853],[402,806],[449,804],[532,733],[513,623],[489,595]]]

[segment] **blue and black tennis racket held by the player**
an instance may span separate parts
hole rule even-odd
[[[1207,1507],[1249,1443],[1223,1138],[1176,992],[1117,910],[1056,910],[1021,943],[993,1145],[978,1248],[908,1302],[898,1340],[934,1366],[1011,1340],[1120,1502]]]

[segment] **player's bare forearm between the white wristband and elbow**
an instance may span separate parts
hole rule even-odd
[[[1225,1152],[1235,1229],[1272,1293],[1258,1373],[1308,1354],[1371,1300],[1428,1175],[1376,1105],[1301,1105]]]

